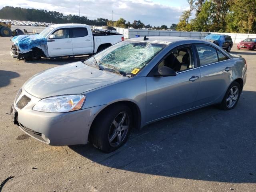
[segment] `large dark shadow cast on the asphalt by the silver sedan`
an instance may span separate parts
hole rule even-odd
[[[201,108],[132,130],[128,142],[106,154],[69,146],[111,168],[193,180],[256,182],[256,92],[243,91],[236,108]],[[250,115],[251,114],[251,115]]]

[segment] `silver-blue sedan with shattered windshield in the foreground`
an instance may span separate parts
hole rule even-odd
[[[122,146],[131,128],[208,105],[234,108],[246,61],[204,40],[126,40],[88,60],[32,76],[11,106],[14,124],[54,145]]]

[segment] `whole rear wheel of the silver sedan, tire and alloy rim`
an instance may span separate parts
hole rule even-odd
[[[228,90],[220,104],[220,108],[223,110],[233,109],[239,100],[240,94],[241,94],[240,84],[238,82],[233,82],[228,87]]]

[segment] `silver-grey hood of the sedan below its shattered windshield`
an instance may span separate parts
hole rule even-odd
[[[22,87],[38,98],[65,94],[80,94],[127,77],[74,62],[42,71],[32,76]]]

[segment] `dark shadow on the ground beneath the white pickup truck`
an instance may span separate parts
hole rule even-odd
[[[31,60],[27,61],[25,60],[24,62],[26,63],[35,63],[35,64],[68,64],[72,62],[78,62],[81,60],[86,60],[88,59],[89,56],[76,56],[76,57],[63,57],[63,58],[42,58],[40,60]]]

